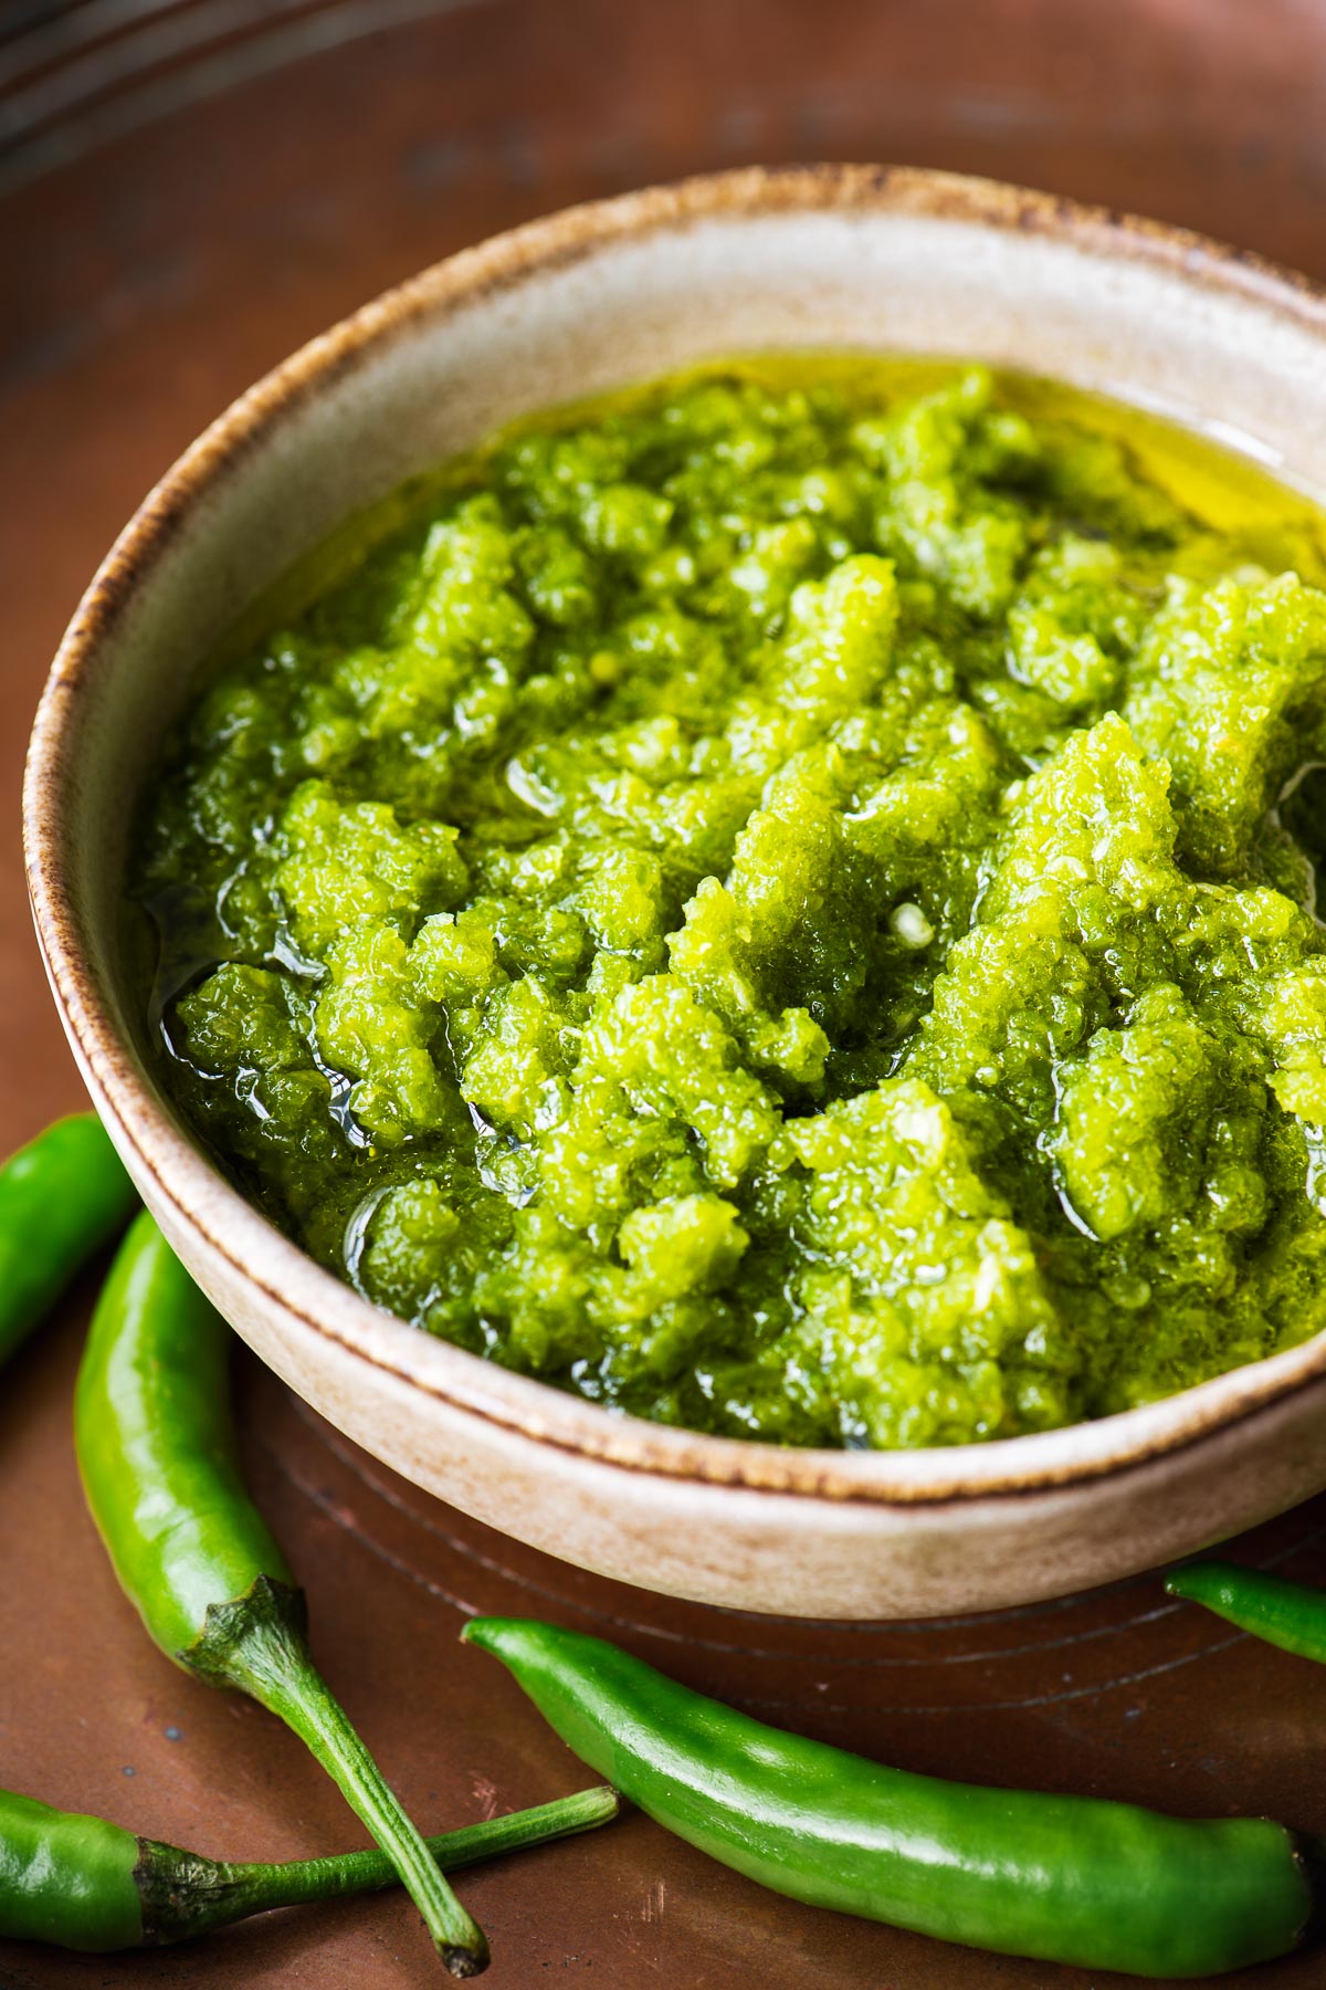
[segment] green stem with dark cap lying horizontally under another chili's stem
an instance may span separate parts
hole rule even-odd
[[[501,1859],[531,1845],[592,1831],[616,1817],[618,1809],[614,1789],[580,1789],[575,1797],[491,1817],[461,1831],[443,1831],[423,1843],[443,1873],[455,1873],[483,1859]],[[153,1841],[141,1841],[135,1879],[143,1896],[145,1936],[153,1942],[179,1942],[272,1908],[308,1906],[400,1885],[400,1873],[376,1847],[326,1859],[290,1859],[284,1865],[225,1865]]]

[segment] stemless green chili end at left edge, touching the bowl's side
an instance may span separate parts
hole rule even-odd
[[[0,1168],[0,1363],[129,1222],[133,1182],[95,1112],[56,1120]]]

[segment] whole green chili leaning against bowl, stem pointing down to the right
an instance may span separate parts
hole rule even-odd
[[[139,1216],[78,1375],[74,1437],[91,1516],[161,1650],[294,1729],[392,1859],[445,1966],[477,1976],[483,1932],[308,1656],[304,1592],[241,1479],[229,1355],[225,1321]]]

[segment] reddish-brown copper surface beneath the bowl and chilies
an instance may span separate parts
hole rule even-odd
[[[66,12],[95,16],[97,0]],[[115,10],[151,12],[185,20],[205,8]],[[169,460],[249,380],[382,285],[571,199],[813,155],[1046,185],[1326,277],[1326,10],[1304,0],[268,12],[280,28],[193,56],[177,36],[183,52],[157,48],[137,70],[125,42],[119,82],[91,78],[82,98],[72,86],[64,109],[48,92],[4,167],[4,1146],[78,1102],[28,931],[16,832],[50,653]],[[0,10],[0,54],[12,58],[22,38],[6,32]],[[318,40],[326,50],[308,54]],[[0,64],[0,84],[6,74]],[[68,70],[52,56],[40,74]],[[30,109],[38,98],[24,88]],[[70,1451],[89,1294],[91,1282],[0,1381],[0,1785],[217,1855],[360,1843],[298,1745],[254,1707],[177,1674],[113,1588]],[[1270,1811],[1326,1831],[1326,1674],[1167,1604],[1153,1580],[964,1624],[773,1624],[521,1550],[354,1453],[252,1363],[241,1367],[241,1409],[254,1487],[310,1590],[324,1670],[429,1829],[588,1781],[501,1672],[457,1644],[465,1612],[503,1610],[602,1630],[769,1719],[914,1769],[1185,1813]],[[1237,1552],[1326,1584],[1326,1502]],[[620,1990],[1117,1982],[793,1906],[640,1817],[461,1887],[493,1940],[495,1990],[571,1978]],[[6,1990],[437,1980],[400,1898],[274,1916],[157,1956],[0,1944]],[[1322,1986],[1326,1952],[1239,1982]]]

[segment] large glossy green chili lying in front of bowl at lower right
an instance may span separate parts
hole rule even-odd
[[[1264,1819],[940,1783],[779,1733],[598,1638],[509,1618],[463,1636],[624,1797],[795,1900],[1171,1980],[1306,1936],[1318,1849]]]

